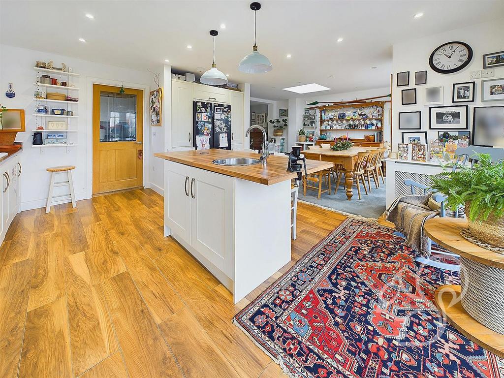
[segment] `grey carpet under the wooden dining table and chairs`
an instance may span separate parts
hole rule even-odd
[[[338,193],[334,195],[334,187],[336,184],[334,180],[331,181],[331,195],[324,193],[320,200],[317,199],[317,191],[312,191],[306,189],[306,196],[303,196],[302,185],[299,185],[299,199],[337,211],[360,215],[366,218],[379,218],[386,209],[387,206],[387,194],[386,194],[386,184],[387,179],[385,179],[385,185],[380,181],[380,188],[376,189],[374,182],[371,179],[371,193],[366,196],[362,185],[360,186],[360,195],[362,200],[359,200],[357,194],[357,187],[353,186],[353,197],[352,201],[348,201],[345,194],[345,187],[340,184]],[[367,187],[367,183],[366,183]],[[325,188],[325,186],[323,186]]]

